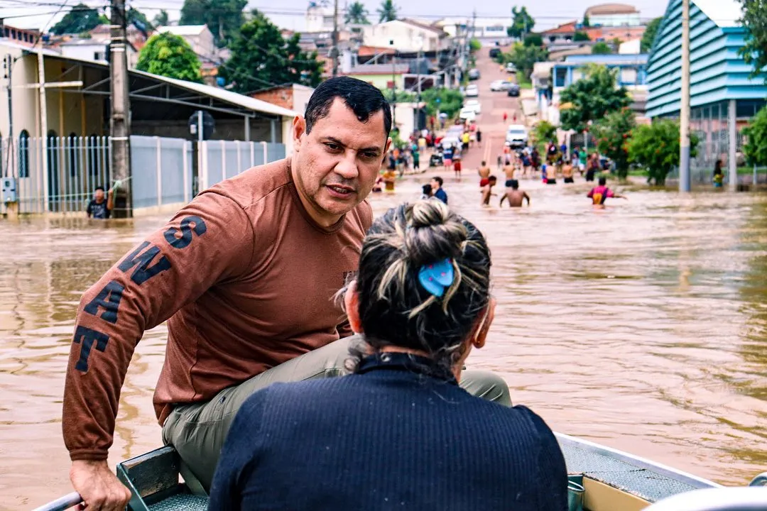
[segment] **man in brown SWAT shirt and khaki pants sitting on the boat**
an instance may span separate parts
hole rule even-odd
[[[120,387],[146,329],[168,320],[153,401],[163,441],[205,487],[253,391],[341,373],[351,331],[333,296],[357,269],[372,221],[364,198],[390,127],[380,90],[348,77],[324,82],[305,118],[293,122],[291,158],[202,192],[87,290],[63,430],[72,484],[88,509],[123,509],[130,497],[107,467],[107,450]],[[462,385],[509,401],[499,378],[467,372]]]

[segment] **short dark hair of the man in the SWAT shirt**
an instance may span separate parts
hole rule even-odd
[[[374,113],[384,112],[386,136],[391,131],[391,106],[377,87],[351,77],[335,77],[325,80],[314,90],[306,105],[306,133],[311,132],[314,123],[327,117],[335,98],[354,111],[360,123],[367,123]]]

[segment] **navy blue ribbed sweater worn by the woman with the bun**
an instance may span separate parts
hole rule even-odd
[[[564,511],[567,485],[538,415],[390,353],[354,375],[275,383],[245,401],[209,509]]]

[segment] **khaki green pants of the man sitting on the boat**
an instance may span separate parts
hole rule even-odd
[[[304,353],[260,375],[225,388],[210,401],[178,405],[163,424],[163,442],[178,450],[186,467],[208,491],[226,433],[235,414],[249,396],[275,382],[298,382],[344,374],[349,347],[358,336]],[[486,371],[463,371],[460,385],[470,394],[511,406],[509,387],[499,376]]]

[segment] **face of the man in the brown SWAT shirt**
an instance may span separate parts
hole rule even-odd
[[[321,224],[334,224],[370,194],[391,143],[384,113],[365,123],[336,98],[306,133],[302,117],[293,121],[293,175],[301,201]]]

